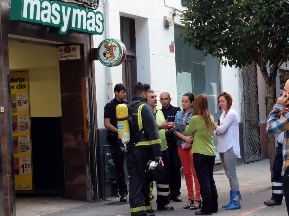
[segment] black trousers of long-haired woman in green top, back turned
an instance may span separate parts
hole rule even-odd
[[[193,158],[203,199],[201,212],[212,213],[212,211],[218,210],[218,193],[213,178],[216,156],[195,153],[193,154]]]

